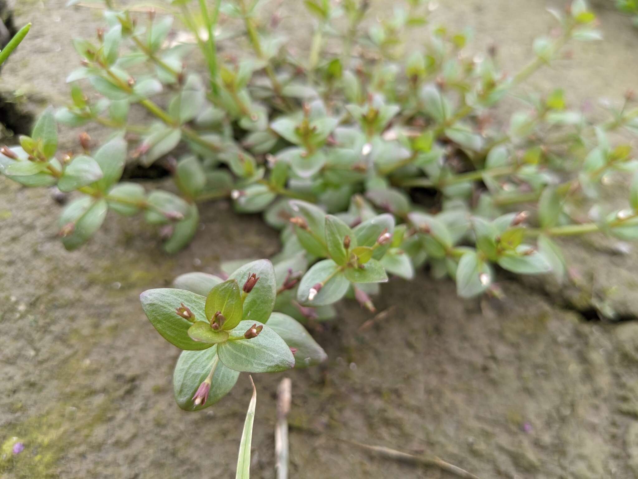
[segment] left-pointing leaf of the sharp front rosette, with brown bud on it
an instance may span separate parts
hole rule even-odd
[[[184,303],[184,306],[193,312],[197,321],[209,324],[205,321],[206,298],[204,296],[183,289],[159,288],[144,291],[140,294],[140,301],[146,317],[170,344],[188,351],[200,351],[211,347],[211,344],[193,341],[188,336],[188,330],[193,323],[175,312],[175,308],[179,308],[179,305]]]

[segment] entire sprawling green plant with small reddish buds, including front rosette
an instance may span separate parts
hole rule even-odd
[[[512,75],[497,48],[472,56],[470,32],[431,24],[427,1],[376,22],[366,20],[367,1],[308,1],[308,55],[270,28],[280,17],[264,21],[260,4],[179,0],[140,13],[108,1],[107,27],[74,41],[80,67],[68,77],[68,105],[45,110],[30,136],[0,150],[7,178],[73,194],[59,221],[69,250],[114,211],[142,214],[177,252],[214,199],[281,231],[270,261],[226,264],[228,278],[191,273],[142,294],[151,323],[184,350],[174,379],[182,408],[211,406],[239,372],[322,361],[302,324],[334,317],[344,297],[375,311],[389,276],[409,280],[427,265],[454,279],[459,296],[498,294],[497,268],[563,280],[556,237],[638,239],[638,160],[609,140],[638,129],[632,92],[600,123],[560,89],[524,97],[497,121],[500,101],[565,44],[600,38],[584,1],[551,11],[556,25]],[[174,19],[188,31],[175,32]],[[422,44],[416,29],[427,33]],[[232,55],[223,53],[230,42]],[[197,49],[205,75],[187,62]],[[133,110],[145,120],[133,121]],[[56,122],[113,133],[97,148],[82,134],[81,153],[62,155]],[[174,188],[122,181],[128,163],[161,167]],[[617,172],[635,176],[627,208],[583,220],[579,211]]]

